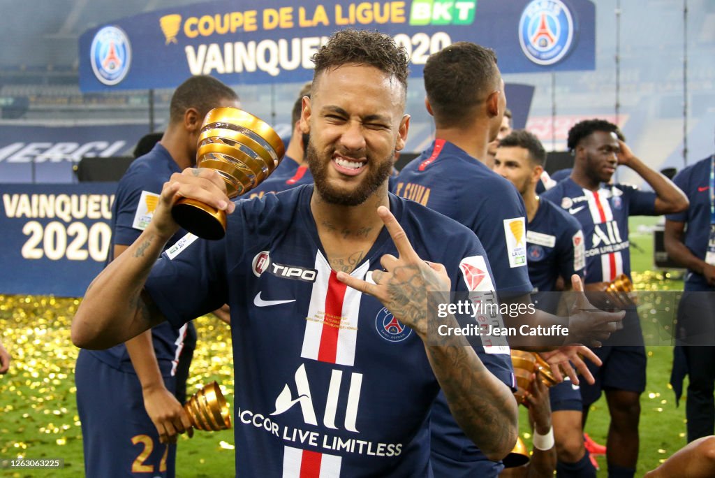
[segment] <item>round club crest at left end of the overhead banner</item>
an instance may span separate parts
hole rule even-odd
[[[112,86],[127,76],[132,62],[129,38],[117,26],[105,26],[97,31],[89,49],[94,76],[103,84]]]

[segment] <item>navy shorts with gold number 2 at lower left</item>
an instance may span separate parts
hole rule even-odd
[[[174,478],[177,447],[159,443],[137,375],[82,350],[74,376],[87,477]],[[174,379],[164,383],[174,391]]]

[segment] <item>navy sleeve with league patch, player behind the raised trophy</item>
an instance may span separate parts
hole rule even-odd
[[[151,219],[163,180],[151,172],[139,170],[122,178],[117,187],[117,217],[114,244],[129,245],[137,240]]]

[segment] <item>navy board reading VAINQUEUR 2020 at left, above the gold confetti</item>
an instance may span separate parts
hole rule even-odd
[[[0,293],[84,296],[107,259],[116,189],[0,184]]]

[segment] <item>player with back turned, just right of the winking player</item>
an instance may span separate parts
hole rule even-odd
[[[435,141],[400,171],[395,194],[415,200],[467,226],[477,235],[492,264],[499,300],[530,301],[533,287],[526,261],[526,210],[518,191],[483,161],[495,140],[506,109],[504,82],[491,49],[457,42],[430,55],[424,69],[425,106],[435,120]],[[547,323],[549,314],[505,317],[506,325]],[[575,316],[571,316],[572,318]],[[512,324],[507,323],[513,321]],[[615,319],[613,319],[615,320]],[[534,341],[509,337],[511,346]],[[508,346],[490,347],[494,355],[509,354]],[[586,348],[586,356],[595,358]],[[571,361],[588,368],[576,348]],[[556,357],[547,353],[550,361]],[[598,359],[596,358],[596,361]],[[566,366],[568,360],[565,361]],[[563,363],[563,361],[562,361]],[[576,381],[576,374],[572,374]],[[560,378],[560,377],[559,377]],[[443,399],[435,402],[431,419],[433,469],[438,476],[496,476],[500,463],[483,454],[456,428]]]

